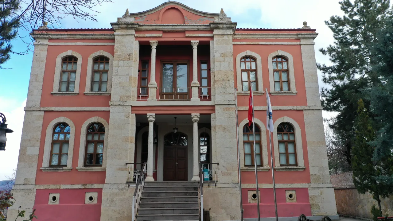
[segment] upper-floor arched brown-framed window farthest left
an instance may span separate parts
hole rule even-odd
[[[78,59],[72,56],[62,60],[59,91],[72,92],[75,90],[77,63]]]

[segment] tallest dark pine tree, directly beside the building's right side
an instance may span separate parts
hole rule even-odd
[[[338,133],[345,145],[344,155],[351,164],[351,148],[354,142],[354,119],[357,101],[364,98],[363,89],[380,84],[378,74],[371,66],[370,44],[376,33],[385,27],[384,18],[391,16],[389,0],[350,0],[340,2],[343,17],[332,16],[325,24],[333,32],[334,45],[321,48],[329,55],[332,66],[317,64],[323,73],[323,82],[331,87],[322,88],[322,107],[338,112],[330,127]],[[364,99],[369,107],[369,100]]]

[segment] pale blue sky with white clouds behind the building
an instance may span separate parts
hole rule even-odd
[[[317,63],[330,64],[329,57],[318,52],[319,48],[326,48],[333,44],[332,32],[325,25],[325,20],[333,15],[343,15],[339,0],[178,0],[193,9],[209,13],[219,13],[223,8],[232,22],[237,22],[237,28],[301,28],[303,22],[319,33],[315,39]],[[156,7],[167,0],[112,0],[94,7],[99,13],[97,22],[90,20],[74,20],[67,17],[62,20],[61,27],[57,28],[111,28],[110,22],[116,22],[118,17],[124,15],[128,8],[130,13],[146,11]],[[21,36],[28,36],[27,32],[20,32]],[[18,52],[26,50],[26,44],[20,39],[13,42]],[[7,134],[6,151],[0,151],[0,180],[12,175],[17,168],[20,137],[26,105],[27,90],[31,69],[32,53],[28,55],[11,55],[11,59],[0,69],[0,112],[8,123],[8,128],[14,133]],[[321,73],[318,72],[320,87]],[[324,118],[334,114],[323,112]]]

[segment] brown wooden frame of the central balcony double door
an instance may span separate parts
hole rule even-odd
[[[190,84],[190,61],[189,60],[162,60],[160,63],[160,83],[161,83],[161,88],[163,88],[163,64],[173,64],[173,67],[177,66],[177,64],[187,64],[187,93],[185,92],[159,92],[160,94],[160,100],[167,100],[167,99],[161,99],[162,94],[173,94],[174,96],[177,94],[187,94],[188,99],[190,99],[190,90],[191,90],[191,84]],[[177,68],[173,68],[173,76],[177,76]],[[172,81],[172,88],[176,88],[177,85],[177,78],[173,77]],[[172,100],[172,99],[169,99]],[[187,99],[175,99],[175,100],[187,100]]]

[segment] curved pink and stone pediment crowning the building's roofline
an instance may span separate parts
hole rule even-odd
[[[132,22],[143,24],[210,24],[220,22],[225,18],[225,22],[230,22],[226,18],[224,11],[220,13],[207,13],[192,9],[179,2],[165,2],[157,7],[138,13],[128,13],[128,9],[119,22]],[[229,19],[229,20],[228,20]]]

